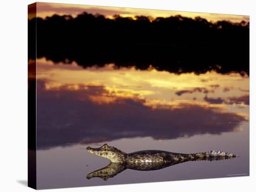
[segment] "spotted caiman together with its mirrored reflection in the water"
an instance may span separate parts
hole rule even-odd
[[[126,169],[137,171],[153,171],[163,169],[187,161],[198,160],[226,160],[237,157],[237,155],[209,151],[195,154],[180,154],[161,150],[143,150],[126,154],[121,150],[104,144],[99,148],[87,147],[88,152],[107,158],[110,164],[87,175],[87,179],[99,177],[108,180]]]

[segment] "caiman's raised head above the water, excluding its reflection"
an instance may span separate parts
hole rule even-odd
[[[104,144],[99,148],[87,147],[86,149],[91,154],[107,158],[112,163],[122,163],[125,160],[124,152],[115,147],[108,146],[108,144]]]

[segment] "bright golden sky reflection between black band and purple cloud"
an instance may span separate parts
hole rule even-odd
[[[46,91],[88,91],[86,96],[79,92],[79,100],[88,99],[99,105],[133,99],[143,101],[144,106],[152,109],[179,109],[185,104],[195,104],[205,109],[228,111],[233,110],[230,106],[247,108],[247,99],[249,102],[245,92],[249,90],[249,77],[238,73],[225,75],[209,71],[201,75],[177,75],[152,67],[117,70],[114,64],[83,69],[75,62],[54,64],[45,58],[37,60],[37,72]]]

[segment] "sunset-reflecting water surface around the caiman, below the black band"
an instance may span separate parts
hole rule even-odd
[[[248,75],[36,62],[38,188],[249,175]],[[216,149],[239,157],[87,179],[109,161],[85,148],[104,143],[127,153]]]

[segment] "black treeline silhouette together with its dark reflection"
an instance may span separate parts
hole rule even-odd
[[[53,15],[28,21],[29,58],[46,57],[54,62],[77,62],[83,67],[104,66],[173,73],[239,72],[249,75],[249,23],[208,22],[206,19],[145,16],[107,19],[82,13]],[[36,38],[35,34],[36,22]]]

